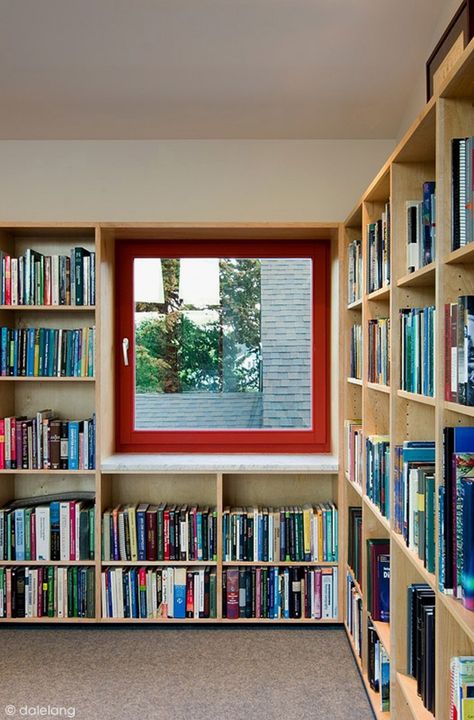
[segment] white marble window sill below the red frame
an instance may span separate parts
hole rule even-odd
[[[182,473],[182,472],[288,472],[336,474],[334,455],[259,455],[259,454],[116,454],[105,458],[103,473]]]

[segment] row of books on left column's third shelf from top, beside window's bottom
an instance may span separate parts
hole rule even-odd
[[[0,418],[0,470],[93,470],[95,415],[60,420],[53,410]]]

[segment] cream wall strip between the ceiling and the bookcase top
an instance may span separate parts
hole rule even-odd
[[[2,221],[341,221],[392,140],[0,141]]]

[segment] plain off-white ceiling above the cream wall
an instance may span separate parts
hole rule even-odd
[[[0,0],[0,138],[392,138],[446,0]]]

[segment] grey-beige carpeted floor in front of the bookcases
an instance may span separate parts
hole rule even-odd
[[[341,628],[4,626],[0,658],[0,720],[373,718]]]

